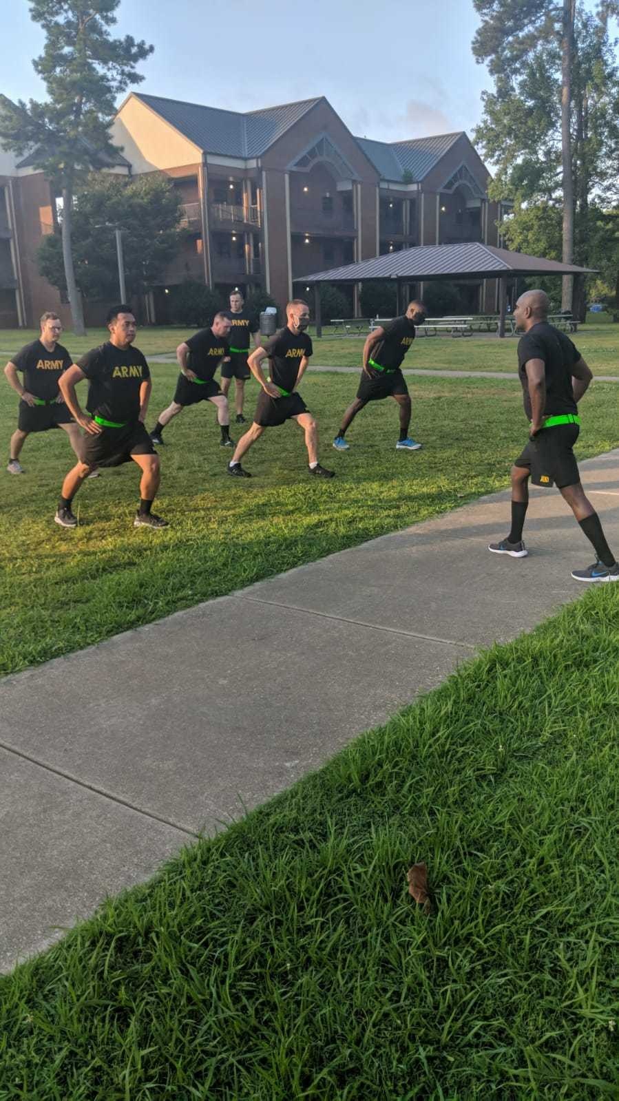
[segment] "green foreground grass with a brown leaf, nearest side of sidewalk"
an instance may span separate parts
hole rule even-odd
[[[2,1099],[616,1098],[618,596],[463,666],[0,980]]]

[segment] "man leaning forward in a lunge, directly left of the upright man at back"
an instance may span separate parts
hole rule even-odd
[[[177,416],[186,405],[198,402],[213,402],[217,406],[217,419],[221,429],[221,447],[234,447],[230,439],[230,416],[228,399],[221,393],[214,374],[219,363],[228,359],[228,334],[230,333],[230,316],[227,313],[216,314],[208,329],[200,329],[188,340],[184,340],[176,349],[176,359],[181,374],[172,404],[160,414],[159,421],[151,432],[153,444],[163,444],[163,429]]]

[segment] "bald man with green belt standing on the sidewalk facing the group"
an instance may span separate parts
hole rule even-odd
[[[518,299],[513,317],[524,330],[518,345],[518,373],[529,442],[511,468],[511,530],[506,539],[490,543],[493,554],[525,558],[522,528],[529,504],[529,479],[535,486],[556,482],[597,555],[593,566],[572,570],[577,581],[619,581],[619,565],[606,542],[599,516],[580,484],[573,447],[578,438],[578,402],[593,374],[572,340],[546,318],[550,299],[543,291],[528,291]]]

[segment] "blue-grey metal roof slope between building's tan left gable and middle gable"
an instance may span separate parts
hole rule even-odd
[[[162,119],[204,153],[242,159],[264,153],[322,98],[280,103],[241,115],[219,107],[186,103],[180,99],[165,99],[163,96],[146,96],[141,91],[134,91],[133,96],[161,115]]]

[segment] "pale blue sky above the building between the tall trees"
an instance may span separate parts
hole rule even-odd
[[[44,32],[28,0],[3,0],[2,9],[11,65],[0,91],[44,99],[32,68]],[[470,51],[471,0],[121,0],[117,14],[115,35],[155,47],[139,90],[236,111],[326,96],[361,138],[470,134],[480,92],[491,87]]]

